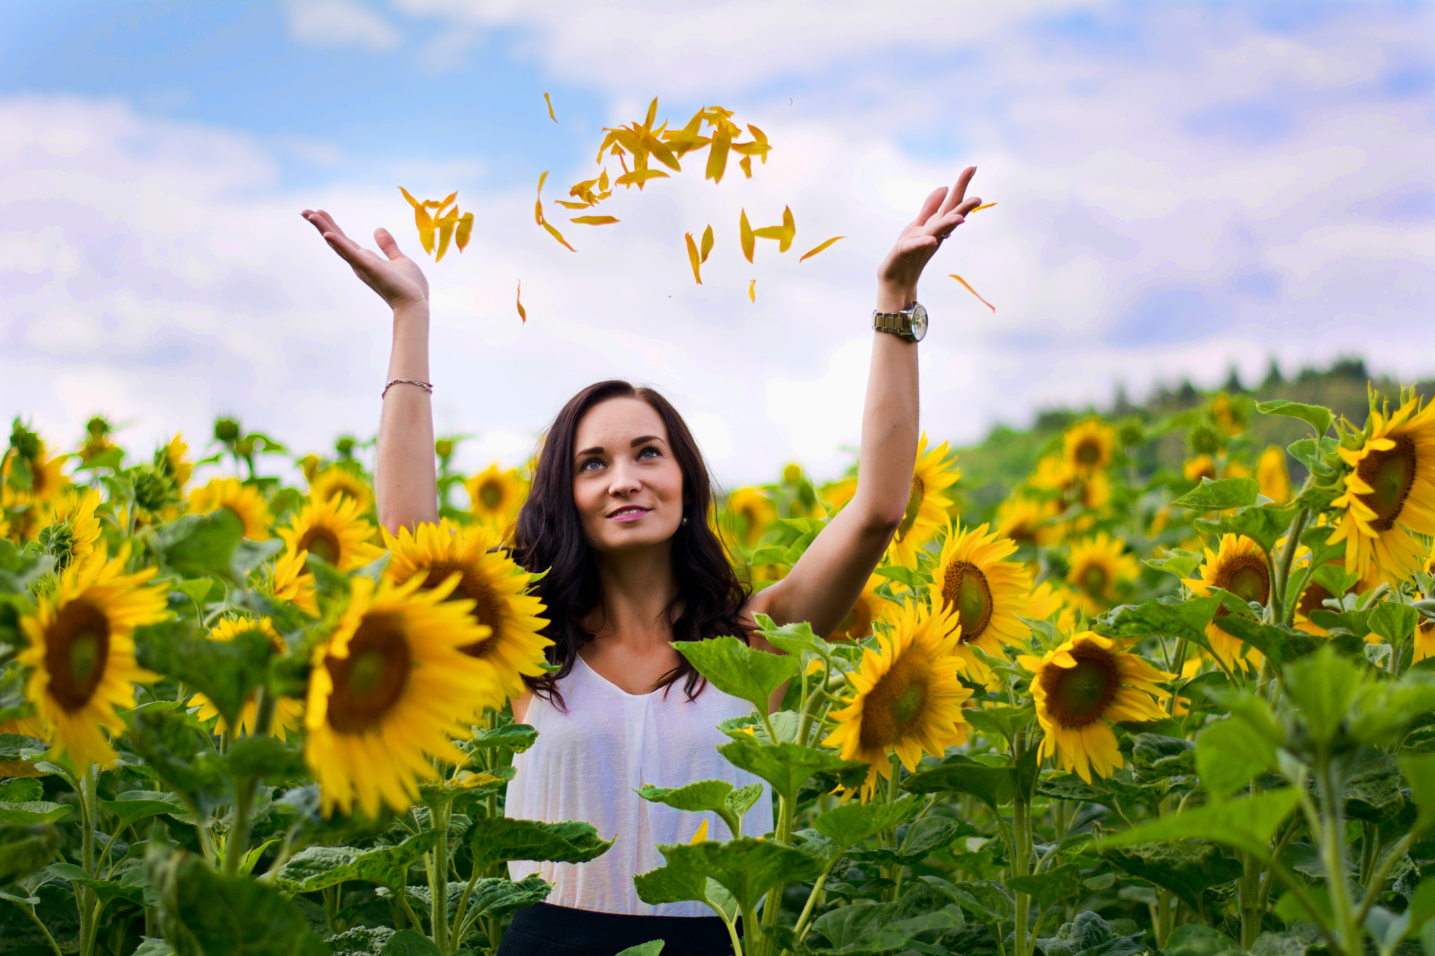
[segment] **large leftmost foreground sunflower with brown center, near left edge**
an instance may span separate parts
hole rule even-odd
[[[52,596],[20,619],[30,646],[19,662],[30,666],[26,697],[50,728],[50,740],[79,767],[108,767],[115,751],[100,728],[125,730],[115,708],[135,705],[135,681],[155,681],[135,661],[135,628],[165,618],[166,589],[146,585],[155,568],[123,573],[126,553],[110,562],[72,565]]]

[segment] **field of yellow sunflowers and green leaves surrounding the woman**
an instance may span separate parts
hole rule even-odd
[[[1172,434],[1184,467],[1142,467]],[[509,860],[611,846],[504,816],[550,642],[502,548],[524,473],[456,443],[441,525],[390,535],[353,439],[296,459],[221,419],[208,457],[135,459],[100,417],[72,451],[16,420],[0,952],[476,956],[550,890]],[[761,589],[854,486],[792,464],[712,520]],[[646,785],[695,833],[643,900],[749,956],[1435,956],[1435,406],[1221,393],[1078,421],[990,515],[960,492],[924,437],[834,634],[676,645],[752,701],[719,751],[776,824],[740,831],[762,787]]]

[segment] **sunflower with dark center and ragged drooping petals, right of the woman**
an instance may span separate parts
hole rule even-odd
[[[1082,631],[1040,658],[1017,658],[1033,675],[1032,702],[1046,731],[1038,755],[1055,755],[1062,770],[1075,770],[1088,784],[1092,770],[1109,777],[1122,765],[1116,735],[1106,721],[1165,718],[1152,698],[1170,694],[1155,682],[1174,675],[1124,651],[1121,642]]]

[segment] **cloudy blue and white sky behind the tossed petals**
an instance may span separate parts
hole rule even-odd
[[[298,447],[372,433],[382,307],[297,211],[412,248],[396,186],[459,189],[474,245],[426,269],[436,414],[481,436],[469,464],[521,460],[568,394],[617,374],[673,394],[719,477],[834,472],[872,269],[969,162],[999,206],[921,290],[934,436],[1271,355],[1428,376],[1432,10],[0,3],[0,400],[65,441],[93,410],[135,421],[132,441],[222,411]],[[679,123],[735,109],[771,162],[617,196],[621,225],[558,248],[532,225],[538,173],[548,199],[591,175],[601,128],[654,95]],[[748,267],[738,209],[784,205],[799,247],[850,238]],[[695,287],[682,234],[707,222]]]

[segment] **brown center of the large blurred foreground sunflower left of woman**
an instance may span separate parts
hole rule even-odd
[[[366,615],[349,641],[349,656],[324,658],[334,682],[329,724],[340,734],[362,734],[382,724],[403,695],[412,658],[396,616]]]

